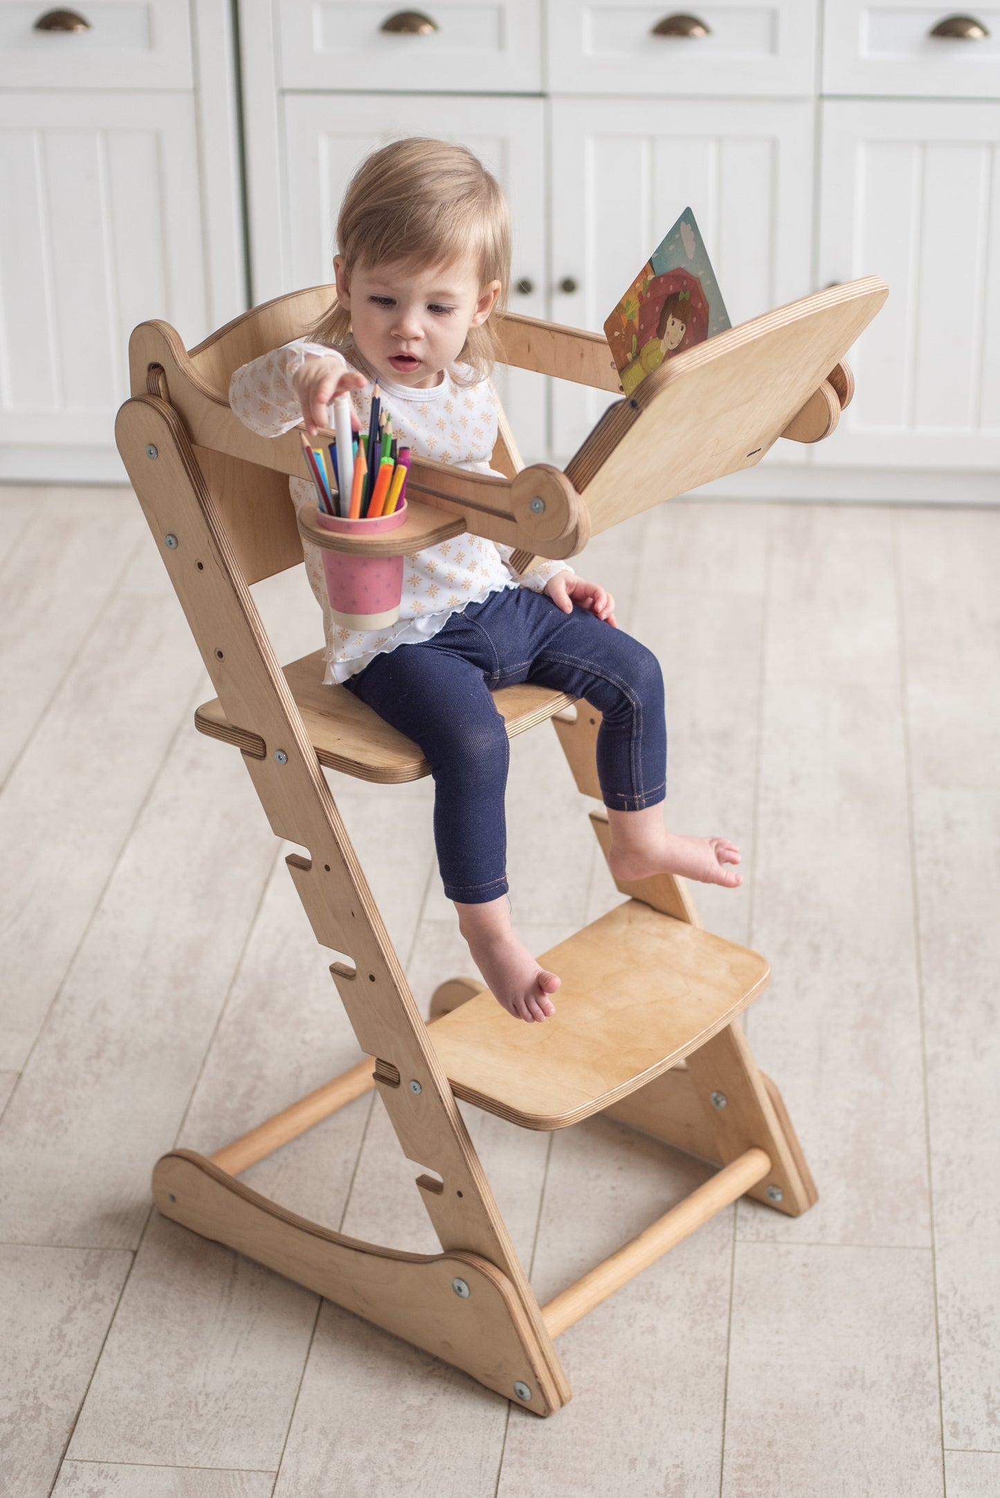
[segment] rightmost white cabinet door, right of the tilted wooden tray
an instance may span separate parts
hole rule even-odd
[[[817,463],[1000,466],[1000,105],[828,100],[820,273],[889,300]]]

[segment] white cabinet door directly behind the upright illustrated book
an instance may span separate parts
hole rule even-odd
[[[811,103],[552,100],[554,321],[600,331],[689,205],[734,325],[805,295],[811,175]],[[608,403],[555,385],[557,461]]]

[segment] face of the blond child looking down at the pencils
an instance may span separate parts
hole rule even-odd
[[[440,383],[470,328],[487,321],[500,282],[479,285],[472,258],[430,270],[407,262],[355,265],[347,276],[334,261],[337,298],[376,374],[415,389]]]

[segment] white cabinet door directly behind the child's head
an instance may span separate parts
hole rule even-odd
[[[540,100],[287,94],[283,111],[286,264],[290,265],[290,283],[283,291],[331,280],[337,211],[362,157],[398,136],[434,135],[467,145],[500,181],[513,226],[512,288],[518,280],[533,288],[530,294],[512,289],[510,306],[531,318],[545,316],[545,118]],[[359,127],[358,121],[365,124]],[[377,121],[377,127],[368,121]],[[497,389],[525,458],[542,457],[546,449],[545,380],[537,374],[499,370]]]

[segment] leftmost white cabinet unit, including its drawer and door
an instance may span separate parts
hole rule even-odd
[[[120,481],[135,324],[193,345],[247,306],[226,0],[84,9],[0,4],[0,479]]]

